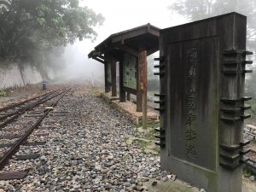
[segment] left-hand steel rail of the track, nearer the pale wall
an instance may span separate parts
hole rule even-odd
[[[56,97],[56,96],[60,96],[63,92],[65,92],[65,90],[62,91],[61,93],[56,94],[55,96],[50,96],[49,98],[47,98],[48,96],[44,96],[44,98],[40,99],[39,101],[37,101],[37,102],[35,102],[35,103],[32,103],[32,105],[27,106],[26,108],[22,109],[22,110],[19,111],[19,112],[16,112],[16,113],[13,115],[13,117],[11,117],[10,119],[8,119],[8,120],[4,121],[2,124],[0,124],[0,130],[2,130],[5,125],[8,125],[9,123],[11,123],[11,122],[13,122],[15,119],[17,119],[21,114],[25,113],[25,112],[28,111],[28,110],[31,110],[32,108],[37,107],[38,105],[40,105],[40,104],[42,104],[42,103],[44,103],[44,102],[49,101],[50,99],[52,99],[52,98],[54,98],[54,97]]]

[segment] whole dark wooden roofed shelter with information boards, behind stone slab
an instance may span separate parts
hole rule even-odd
[[[124,32],[114,33],[98,44],[89,58],[105,65],[105,92],[117,96],[116,63],[119,62],[119,101],[125,92],[137,96],[137,112],[143,111],[147,96],[147,56],[159,50],[160,29],[149,23]]]

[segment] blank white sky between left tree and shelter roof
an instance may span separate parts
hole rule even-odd
[[[81,0],[81,5],[105,17],[103,26],[96,29],[98,38],[94,44],[90,44],[90,49],[109,35],[136,26],[150,23],[159,28],[166,28],[184,23],[183,18],[174,17],[172,11],[167,9],[173,2],[175,0]]]

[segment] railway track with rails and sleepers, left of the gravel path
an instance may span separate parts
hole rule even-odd
[[[38,142],[47,133],[32,133],[38,129],[42,121],[50,111],[71,90],[72,86],[65,90],[55,90],[42,96],[33,97],[24,102],[15,103],[0,108],[0,170],[8,165],[9,160],[19,151],[20,146],[36,146],[45,142]],[[33,137],[36,142],[28,143],[28,138]],[[38,139],[39,137],[39,139]],[[20,160],[37,159],[39,154],[26,154],[16,156]],[[0,172],[0,180],[22,178],[27,171]]]

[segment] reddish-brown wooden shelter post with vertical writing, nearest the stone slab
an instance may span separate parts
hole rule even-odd
[[[139,89],[143,97],[143,129],[147,128],[147,50],[138,55]]]

